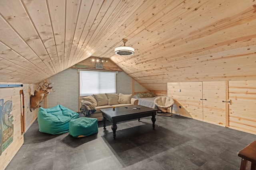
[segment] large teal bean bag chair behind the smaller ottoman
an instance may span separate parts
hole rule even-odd
[[[49,109],[39,107],[38,125],[39,131],[52,135],[62,134],[69,131],[69,121],[79,118],[78,113],[61,105]]]

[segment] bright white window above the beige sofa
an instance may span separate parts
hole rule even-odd
[[[116,72],[80,70],[80,96],[116,93]]]

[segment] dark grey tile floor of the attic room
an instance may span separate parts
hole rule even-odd
[[[237,152],[256,135],[173,115],[118,123],[73,138],[49,135],[35,121],[6,170],[239,170]]]

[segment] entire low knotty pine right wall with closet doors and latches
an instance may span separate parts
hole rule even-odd
[[[170,82],[168,96],[174,114],[256,134],[256,80]]]

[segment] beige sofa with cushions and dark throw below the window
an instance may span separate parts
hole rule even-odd
[[[97,118],[98,121],[102,121],[102,113],[100,109],[115,107],[124,107],[131,105],[138,105],[138,99],[132,98],[132,94],[94,94],[93,96],[85,96],[80,101],[80,106],[84,104],[84,101],[92,103],[96,111],[92,113],[91,117]]]

